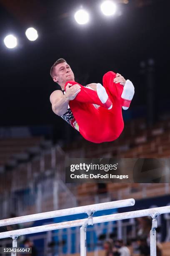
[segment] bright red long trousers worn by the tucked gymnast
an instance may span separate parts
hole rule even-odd
[[[69,106],[79,126],[80,134],[87,140],[94,143],[114,141],[124,128],[122,118],[121,95],[123,86],[115,84],[113,79],[116,74],[112,71],[103,76],[103,86],[112,102],[112,109],[103,107],[97,92],[82,86],[81,91],[74,100],[70,100]],[[68,81],[65,84],[78,84],[75,81]],[[97,109],[94,105],[100,105]]]

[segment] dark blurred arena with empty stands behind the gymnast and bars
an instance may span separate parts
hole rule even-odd
[[[170,203],[169,183],[65,184],[67,157],[166,158],[169,168],[170,3],[115,3],[119,11],[105,17],[98,0],[0,0],[0,219],[131,197],[136,200],[133,209],[121,211]],[[81,5],[91,17],[84,26],[74,20]],[[33,42],[25,36],[30,26],[39,35]],[[10,33],[18,38],[15,49],[7,49],[3,43]],[[123,111],[125,129],[119,139],[102,144],[85,141],[52,112],[49,97],[60,88],[50,77],[50,67],[58,58],[67,60],[81,84],[102,82],[109,70],[133,82],[135,97],[130,109]],[[69,218],[84,217],[43,223]],[[136,222],[122,224],[119,234],[117,223],[89,227],[87,251],[105,255],[103,243],[111,237],[122,238],[136,255]],[[163,215],[158,230],[163,256],[170,255],[169,225],[169,215]],[[38,256],[80,253],[77,229],[28,237]],[[0,241],[4,244],[9,240]]]

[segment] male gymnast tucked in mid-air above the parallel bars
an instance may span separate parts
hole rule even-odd
[[[116,140],[124,128],[122,108],[127,110],[134,95],[134,86],[112,71],[99,83],[82,86],[65,59],[52,65],[50,75],[62,90],[50,95],[52,110],[94,143]]]

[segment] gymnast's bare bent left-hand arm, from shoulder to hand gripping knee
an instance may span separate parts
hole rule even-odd
[[[52,104],[52,110],[56,115],[64,115],[67,112],[68,104],[70,100],[74,100],[77,94],[80,92],[80,85],[67,84],[65,87],[65,95],[62,91],[56,90],[50,95],[50,102]]]

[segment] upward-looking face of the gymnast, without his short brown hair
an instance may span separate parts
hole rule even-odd
[[[74,81],[74,74],[66,62],[57,64],[55,67],[55,77],[53,77],[53,80],[59,85],[63,85],[67,81]]]

